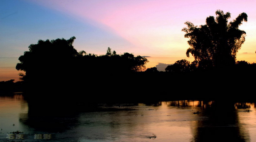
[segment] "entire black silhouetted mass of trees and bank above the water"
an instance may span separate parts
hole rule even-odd
[[[24,96],[30,104],[83,104],[93,102],[167,101],[174,99],[255,99],[256,64],[236,61],[245,41],[238,26],[247,21],[241,13],[228,23],[230,13],[216,11],[206,25],[186,22],[183,28],[195,60],[183,59],[146,71],[148,59],[130,53],[104,55],[78,52],[75,37],[39,40],[19,57]],[[185,53],[184,53],[185,54]],[[1,82],[5,83],[5,82]]]

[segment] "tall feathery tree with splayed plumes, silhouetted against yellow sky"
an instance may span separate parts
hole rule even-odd
[[[185,38],[189,38],[187,56],[191,53],[198,61],[199,67],[223,67],[234,65],[236,54],[245,41],[245,31],[238,26],[247,21],[247,14],[241,13],[235,20],[228,23],[230,13],[216,11],[217,17],[206,18],[206,25],[194,26],[187,21],[183,28]]]

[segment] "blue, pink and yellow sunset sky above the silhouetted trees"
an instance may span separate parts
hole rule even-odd
[[[87,53],[106,54],[110,47],[146,56],[146,67],[164,70],[186,56],[189,48],[181,31],[186,21],[204,25],[216,10],[230,20],[248,15],[239,29],[246,32],[237,60],[256,62],[255,0],[1,0],[0,81],[19,80],[18,57],[38,40],[76,37],[73,46]]]

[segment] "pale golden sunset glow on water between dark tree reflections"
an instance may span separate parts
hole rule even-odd
[[[192,109],[177,109],[170,103],[121,104],[108,107],[119,111],[82,113],[79,123],[83,126],[79,126],[75,133],[87,133],[91,138],[101,136],[107,141],[111,138],[115,141],[151,141],[153,134],[157,136],[154,141],[189,141],[192,137],[190,121],[195,119]]]

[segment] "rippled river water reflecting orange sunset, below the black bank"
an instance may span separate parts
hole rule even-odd
[[[16,130],[29,134],[26,141],[33,141],[34,134],[53,134],[53,141],[256,140],[254,103],[98,104],[80,106],[71,111],[75,113],[52,108],[51,112],[61,112],[60,115],[48,110],[34,113],[37,109],[29,109],[21,95],[0,97],[0,102],[0,140],[6,140],[6,134]]]

